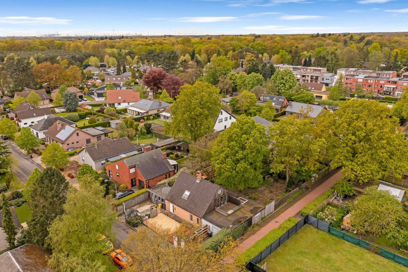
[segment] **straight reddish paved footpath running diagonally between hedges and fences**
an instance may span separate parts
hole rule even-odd
[[[304,198],[300,199],[297,201],[292,207],[289,207],[288,210],[284,211],[282,214],[280,214],[277,218],[275,218],[273,221],[268,223],[265,227],[260,229],[258,232],[253,234],[252,236],[248,237],[244,242],[242,242],[238,247],[237,247],[237,253],[244,252],[248,247],[253,245],[256,241],[264,237],[268,232],[270,232],[272,229],[275,227],[279,227],[279,225],[288,219],[291,216],[295,216],[302,210],[306,205],[308,205],[310,202],[315,200],[317,197],[322,195],[324,192],[326,192],[330,187],[333,187],[336,181],[338,181],[341,178],[341,169],[333,170],[335,172],[327,178],[326,181],[324,181],[322,184],[317,186],[315,189],[310,191]]]

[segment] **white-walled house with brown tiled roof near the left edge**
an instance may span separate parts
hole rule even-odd
[[[33,105],[23,102],[16,107],[14,111],[10,113],[11,117],[14,117],[17,125],[21,127],[29,127],[34,125],[39,120],[44,119],[45,116],[51,115],[49,108],[37,109]]]

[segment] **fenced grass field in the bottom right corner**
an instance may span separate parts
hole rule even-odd
[[[304,225],[261,264],[265,262],[267,271],[408,271],[310,225]]]

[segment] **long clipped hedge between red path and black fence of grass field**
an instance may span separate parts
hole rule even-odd
[[[259,253],[265,250],[266,247],[271,245],[271,243],[275,242],[282,236],[285,232],[287,232],[291,227],[296,225],[299,222],[294,217],[289,217],[279,227],[271,230],[266,234],[264,237],[259,239],[255,242],[255,244],[251,245],[247,250],[242,252],[235,258],[235,263],[241,267],[244,267],[249,261],[255,258]]]

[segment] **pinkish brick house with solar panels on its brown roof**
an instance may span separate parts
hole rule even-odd
[[[44,132],[45,141],[49,143],[59,143],[65,150],[71,147],[80,148],[82,145],[91,145],[100,142],[105,138],[105,134],[111,132],[109,129],[78,129],[64,122],[57,121]]]

